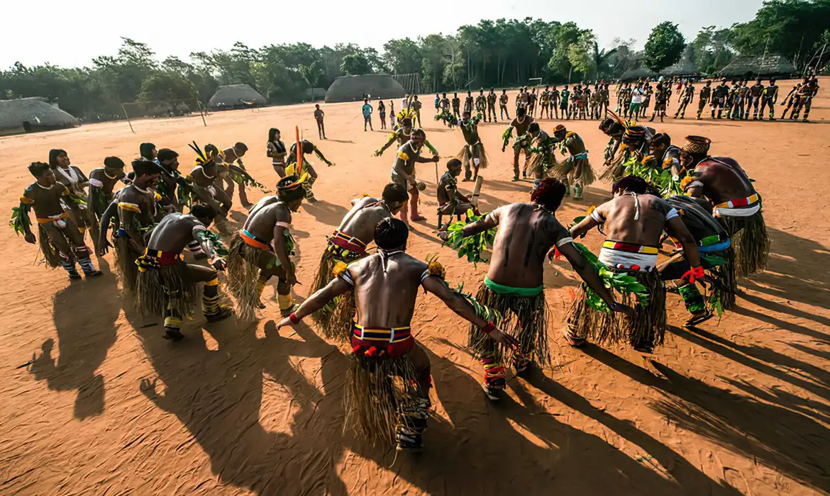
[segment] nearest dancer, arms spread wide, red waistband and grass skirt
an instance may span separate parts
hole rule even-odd
[[[509,345],[515,340],[479,317],[463,295],[447,286],[441,264],[426,264],[408,255],[408,235],[403,221],[380,221],[374,228],[378,253],[344,267],[277,328],[296,325],[332,299],[353,291],[357,315],[352,324],[345,424],[361,439],[395,440],[398,450],[419,450],[432,381],[427,353],[410,328],[418,291],[435,294],[488,339]]]

